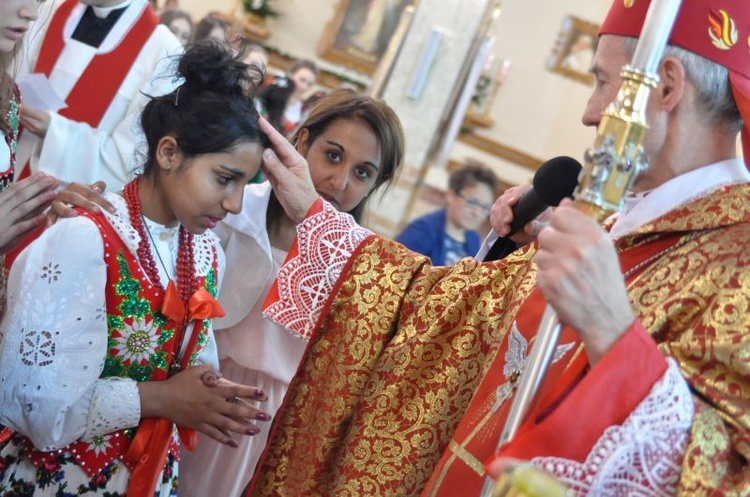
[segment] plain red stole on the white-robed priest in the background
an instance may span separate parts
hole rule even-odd
[[[39,50],[35,72],[47,77],[52,74],[65,48],[65,23],[78,5],[78,0],[67,0],[52,16]],[[58,113],[73,121],[87,123],[92,128],[98,127],[117,90],[158,25],[159,17],[146,4],[141,16],[114,50],[94,56],[65,99],[68,106]],[[30,164],[27,162],[20,178],[23,179],[30,173]]]

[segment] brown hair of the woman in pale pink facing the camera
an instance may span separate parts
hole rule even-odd
[[[299,124],[292,143],[296,144],[301,129],[308,133],[308,147],[339,119],[361,119],[372,129],[380,144],[380,173],[367,197],[349,214],[359,221],[370,195],[396,174],[404,158],[404,131],[401,121],[385,102],[350,89],[336,90],[318,99],[307,118]]]

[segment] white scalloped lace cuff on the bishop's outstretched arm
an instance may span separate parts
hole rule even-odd
[[[355,249],[372,231],[349,214],[322,202],[323,209],[297,226],[297,252],[276,277],[278,299],[267,302],[264,314],[309,340],[323,306]]]

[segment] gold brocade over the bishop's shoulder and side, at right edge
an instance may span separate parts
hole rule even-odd
[[[750,495],[748,199],[747,185],[727,187],[639,230],[710,230],[656,261],[629,291],[644,326],[696,392],[682,495]]]

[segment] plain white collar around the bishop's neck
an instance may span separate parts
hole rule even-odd
[[[621,238],[641,226],[728,185],[750,182],[750,173],[742,159],[729,159],[694,169],[672,178],[649,192],[634,194],[625,201],[625,210],[617,217],[610,237]]]

